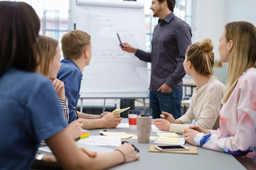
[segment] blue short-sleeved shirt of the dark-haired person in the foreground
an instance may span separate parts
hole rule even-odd
[[[58,96],[42,74],[9,68],[0,77],[0,169],[30,169],[41,140],[63,130]]]

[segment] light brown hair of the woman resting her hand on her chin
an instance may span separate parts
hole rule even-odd
[[[41,63],[39,64],[36,72],[49,77],[50,62],[53,61],[53,57],[56,55],[58,41],[44,35],[39,35],[38,45],[41,49]]]

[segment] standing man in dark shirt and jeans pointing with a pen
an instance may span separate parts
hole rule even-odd
[[[154,28],[151,52],[139,50],[124,42],[122,50],[133,52],[140,60],[151,62],[149,105],[153,118],[162,111],[181,117],[183,60],[191,45],[191,28],[174,15],[176,0],[152,0],[151,10],[159,23]]]

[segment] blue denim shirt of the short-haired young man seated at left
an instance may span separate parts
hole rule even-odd
[[[60,63],[61,66],[57,78],[65,84],[65,96],[68,98],[68,108],[70,111],[68,123],[72,123],[76,120],[73,107],[78,105],[78,99],[80,98],[82,72],[73,60],[64,59]]]

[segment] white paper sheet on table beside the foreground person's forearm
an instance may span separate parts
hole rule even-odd
[[[117,147],[121,145],[121,137],[119,136],[102,136],[91,135],[88,138],[78,140],[78,143],[93,145],[93,146],[113,146]]]

